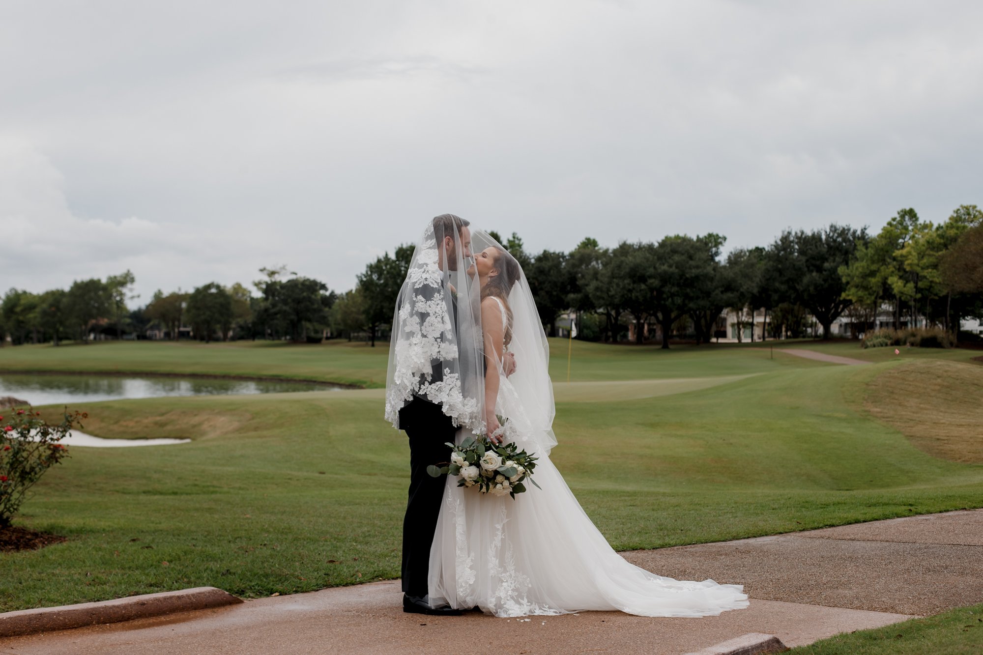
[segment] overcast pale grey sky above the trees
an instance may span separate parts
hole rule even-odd
[[[983,3],[0,0],[0,287],[983,205]]]

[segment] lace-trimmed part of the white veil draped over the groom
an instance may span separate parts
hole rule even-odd
[[[472,281],[471,230],[445,213],[427,223],[396,300],[389,344],[385,418],[419,396],[439,404],[455,426],[484,430],[481,301]]]

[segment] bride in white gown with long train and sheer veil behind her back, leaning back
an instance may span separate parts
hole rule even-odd
[[[447,476],[430,554],[431,606],[478,607],[496,617],[580,610],[704,617],[747,607],[740,585],[656,575],[607,544],[549,460],[556,445],[549,345],[529,282],[487,233],[472,230],[471,252],[467,273],[480,289],[486,363],[484,416],[476,417],[474,432],[499,441],[504,430],[506,441],[535,453],[539,488],[526,485],[513,500],[458,487],[457,478]],[[509,352],[518,366],[506,377],[502,362]],[[498,416],[506,419],[503,430]],[[459,430],[456,443],[466,433]]]

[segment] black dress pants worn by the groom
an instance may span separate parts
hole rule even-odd
[[[451,449],[444,443],[453,444],[458,429],[439,405],[421,398],[399,410],[399,427],[410,440],[410,494],[403,519],[403,593],[423,597],[427,595],[430,549],[447,477],[431,477],[427,467],[450,460]]]

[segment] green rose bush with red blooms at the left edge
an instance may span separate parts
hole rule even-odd
[[[30,487],[41,475],[68,456],[68,447],[58,442],[87,418],[80,412],[65,412],[62,422],[51,425],[31,409],[12,410],[0,416],[0,527],[7,527]]]

